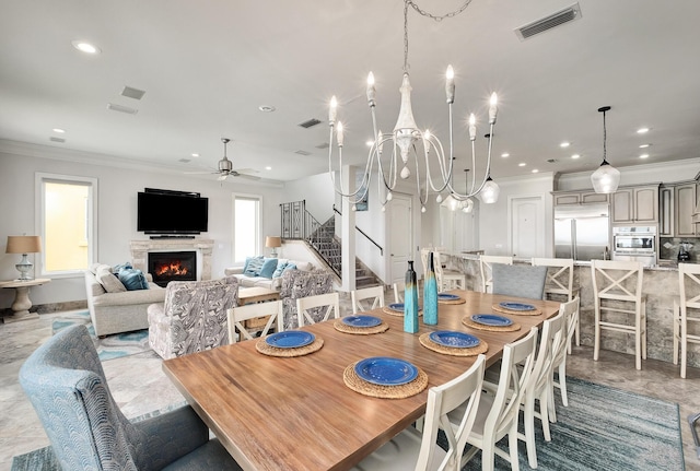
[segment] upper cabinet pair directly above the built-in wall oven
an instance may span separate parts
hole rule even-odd
[[[657,224],[658,185],[619,188],[612,195],[612,224]]]

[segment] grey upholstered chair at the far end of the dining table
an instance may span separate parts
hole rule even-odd
[[[547,267],[493,263],[491,274],[493,294],[506,294],[530,299],[541,299],[545,295]]]

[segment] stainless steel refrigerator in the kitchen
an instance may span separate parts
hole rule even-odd
[[[610,247],[607,203],[555,207],[555,257],[603,259]]]

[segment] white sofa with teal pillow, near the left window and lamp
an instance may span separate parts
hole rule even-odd
[[[106,267],[106,268],[105,268]],[[95,263],[90,270],[85,270],[85,290],[88,293],[88,307],[95,329],[95,335],[104,337],[110,333],[130,332],[149,328],[148,307],[153,303],[165,301],[165,290],[153,283],[153,279],[145,273],[148,290],[125,291],[121,285],[112,287],[106,282],[106,287],[100,282],[97,273],[100,269],[109,269],[108,266]],[[103,279],[104,276],[100,276]],[[117,282],[119,280],[117,279]]]

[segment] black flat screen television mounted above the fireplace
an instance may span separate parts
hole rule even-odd
[[[137,199],[137,231],[145,234],[207,232],[209,199],[199,193],[145,189]]]

